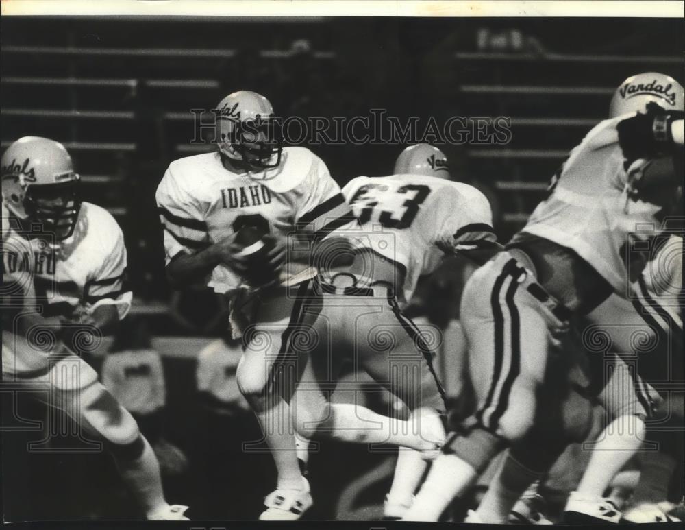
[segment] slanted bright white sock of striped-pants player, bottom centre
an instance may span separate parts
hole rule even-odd
[[[437,521],[453,498],[464,494],[477,477],[475,469],[458,456],[440,455],[402,520]]]

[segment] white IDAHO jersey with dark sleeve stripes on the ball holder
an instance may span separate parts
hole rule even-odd
[[[278,167],[258,172],[229,171],[218,152],[180,158],[166,170],[157,204],[167,264],[179,252],[203,250],[245,224],[282,236],[297,228],[321,239],[356,225],[323,160],[304,147],[284,148]],[[219,265],[208,285],[230,293],[244,282]]]

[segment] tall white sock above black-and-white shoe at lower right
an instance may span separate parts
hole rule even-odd
[[[576,492],[584,498],[601,498],[625,463],[643,443],[645,422],[636,415],[616,418],[597,437]]]

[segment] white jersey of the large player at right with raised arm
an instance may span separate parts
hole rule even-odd
[[[649,162],[636,160],[625,167],[616,125],[626,117],[601,121],[588,132],[553,178],[551,195],[522,230],[575,251],[623,296],[629,234],[647,240],[662,228],[662,207],[627,192],[629,173],[642,171]]]

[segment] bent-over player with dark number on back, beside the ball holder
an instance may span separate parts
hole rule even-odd
[[[446,255],[479,254],[498,248],[486,197],[467,184],[451,182],[439,149],[415,145],[403,152],[396,173],[382,178],[358,177],[343,189],[362,230],[354,234],[351,263],[319,266],[314,290],[321,296],[303,307],[304,332],[312,352],[295,394],[297,429],[307,437],[343,427],[329,410],[321,389],[335,386],[340,363],[351,358],[410,409],[410,423],[433,448],[444,437],[440,413],[443,389],[433,368],[429,340],[401,311],[419,277],[430,274]],[[343,232],[343,230],[340,230]],[[314,340],[330,337],[336,349]],[[384,442],[380,429],[366,442]],[[392,490],[384,509],[399,518],[412,502],[428,459],[401,451]]]

